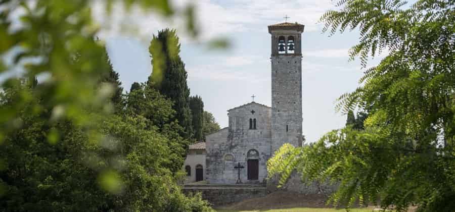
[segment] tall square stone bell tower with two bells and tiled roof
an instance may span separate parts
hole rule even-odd
[[[302,145],[302,48],[304,25],[268,26],[271,34],[271,153]]]

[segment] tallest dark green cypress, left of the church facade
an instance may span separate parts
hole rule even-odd
[[[157,89],[173,102],[178,124],[185,131],[181,136],[191,139],[193,122],[190,110],[190,89],[187,85],[187,71],[181,61],[180,43],[175,30],[164,29],[153,35],[149,52],[152,57],[153,71],[148,85]]]

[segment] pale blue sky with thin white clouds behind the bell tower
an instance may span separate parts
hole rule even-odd
[[[173,1],[183,8],[188,1]],[[200,36],[188,36],[183,19],[164,20],[153,13],[134,11],[126,15],[115,7],[106,17],[95,4],[96,18],[103,28],[100,37],[123,87],[144,82],[151,74],[148,51],[153,34],[176,28],[181,42],[180,57],[186,64],[191,95],[202,96],[204,110],[212,113],[221,128],[228,125],[227,110],[254,101],[271,105],[270,34],[267,26],[284,22],[305,25],[302,34],[302,132],[307,142],[345,125],[346,116],[335,111],[336,99],[353,91],[362,76],[359,60],[348,61],[348,50],[356,44],[358,32],[329,36],[322,33],[321,15],[334,9],[330,0],[199,0],[196,18]],[[106,24],[108,23],[108,24]],[[133,23],[133,24],[131,24]],[[137,26],[132,28],[131,26]],[[228,38],[231,47],[210,50],[205,45],[216,38]],[[373,60],[368,66],[375,65]]]

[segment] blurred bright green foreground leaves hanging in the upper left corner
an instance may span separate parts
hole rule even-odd
[[[0,60],[0,73],[22,67],[26,79],[37,75],[45,76],[36,90],[42,95],[42,104],[34,105],[27,110],[37,113],[39,110],[51,110],[53,113],[41,117],[44,121],[56,121],[68,118],[90,127],[95,120],[90,120],[85,109],[97,109],[107,112],[107,97],[112,87],[93,89],[98,86],[100,78],[105,74],[104,45],[94,39],[99,24],[93,19],[90,8],[92,1],[76,0],[61,1],[1,1],[0,16],[0,55],[11,52],[12,62]],[[167,0],[135,0],[135,1],[99,1],[106,3],[107,15],[112,15],[114,4],[123,4],[127,9],[140,6],[152,10],[160,16],[183,16],[187,20],[191,35],[197,35],[194,24],[193,7],[175,11]],[[128,10],[129,12],[129,10]],[[19,14],[19,16],[18,16]],[[21,26],[21,27],[17,27]],[[36,59],[36,60],[30,60]],[[6,76],[0,83],[3,89],[14,86],[18,80]],[[0,110],[0,145],[14,131],[17,125],[21,105],[29,103],[29,96],[18,96],[14,105]]]

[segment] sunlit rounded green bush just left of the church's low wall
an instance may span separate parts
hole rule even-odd
[[[173,146],[167,136],[149,129],[143,117],[114,117],[104,123],[101,147],[109,155],[105,163],[117,163],[122,184],[113,187],[116,211],[212,211],[200,196],[186,197],[176,184],[169,164]],[[101,149],[100,149],[101,150]],[[181,169],[181,165],[178,167]],[[106,175],[109,170],[104,171]],[[109,177],[109,176],[108,176]],[[108,182],[99,179],[108,189]],[[119,198],[120,197],[120,198]],[[119,201],[121,200],[121,201]]]

